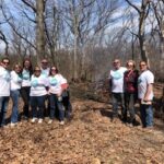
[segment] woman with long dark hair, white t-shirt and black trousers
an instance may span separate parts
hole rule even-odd
[[[23,61],[22,70],[22,87],[21,96],[23,99],[23,117],[27,119],[30,117],[30,91],[31,91],[31,77],[33,74],[32,62],[28,58],[25,58]]]

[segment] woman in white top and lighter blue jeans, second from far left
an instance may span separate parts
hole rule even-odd
[[[13,71],[11,71],[11,99],[12,99],[12,114],[11,114],[11,127],[15,126],[19,118],[19,97],[22,85],[22,69],[19,63],[14,65]]]

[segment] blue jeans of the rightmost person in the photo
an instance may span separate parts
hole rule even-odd
[[[153,126],[153,107],[152,105],[140,104],[141,121],[143,127]]]

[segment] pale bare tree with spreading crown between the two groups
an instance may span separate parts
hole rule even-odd
[[[73,37],[73,79],[85,73],[85,46],[99,35],[112,22],[112,15],[117,9],[116,0],[68,0],[62,5],[63,20]],[[102,34],[102,35],[101,35]],[[97,39],[97,38],[96,38]]]

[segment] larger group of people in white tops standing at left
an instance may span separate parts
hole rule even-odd
[[[23,99],[23,118],[28,119],[30,107],[32,122],[42,124],[45,116],[51,124],[58,117],[59,124],[65,125],[65,117],[71,116],[72,106],[69,98],[69,85],[59,73],[57,67],[48,67],[47,59],[43,59],[40,67],[34,69],[28,58],[23,66],[15,63],[10,71],[10,59],[0,62],[0,127],[5,126],[5,114],[9,98],[12,99],[11,127],[19,121],[19,98]]]

